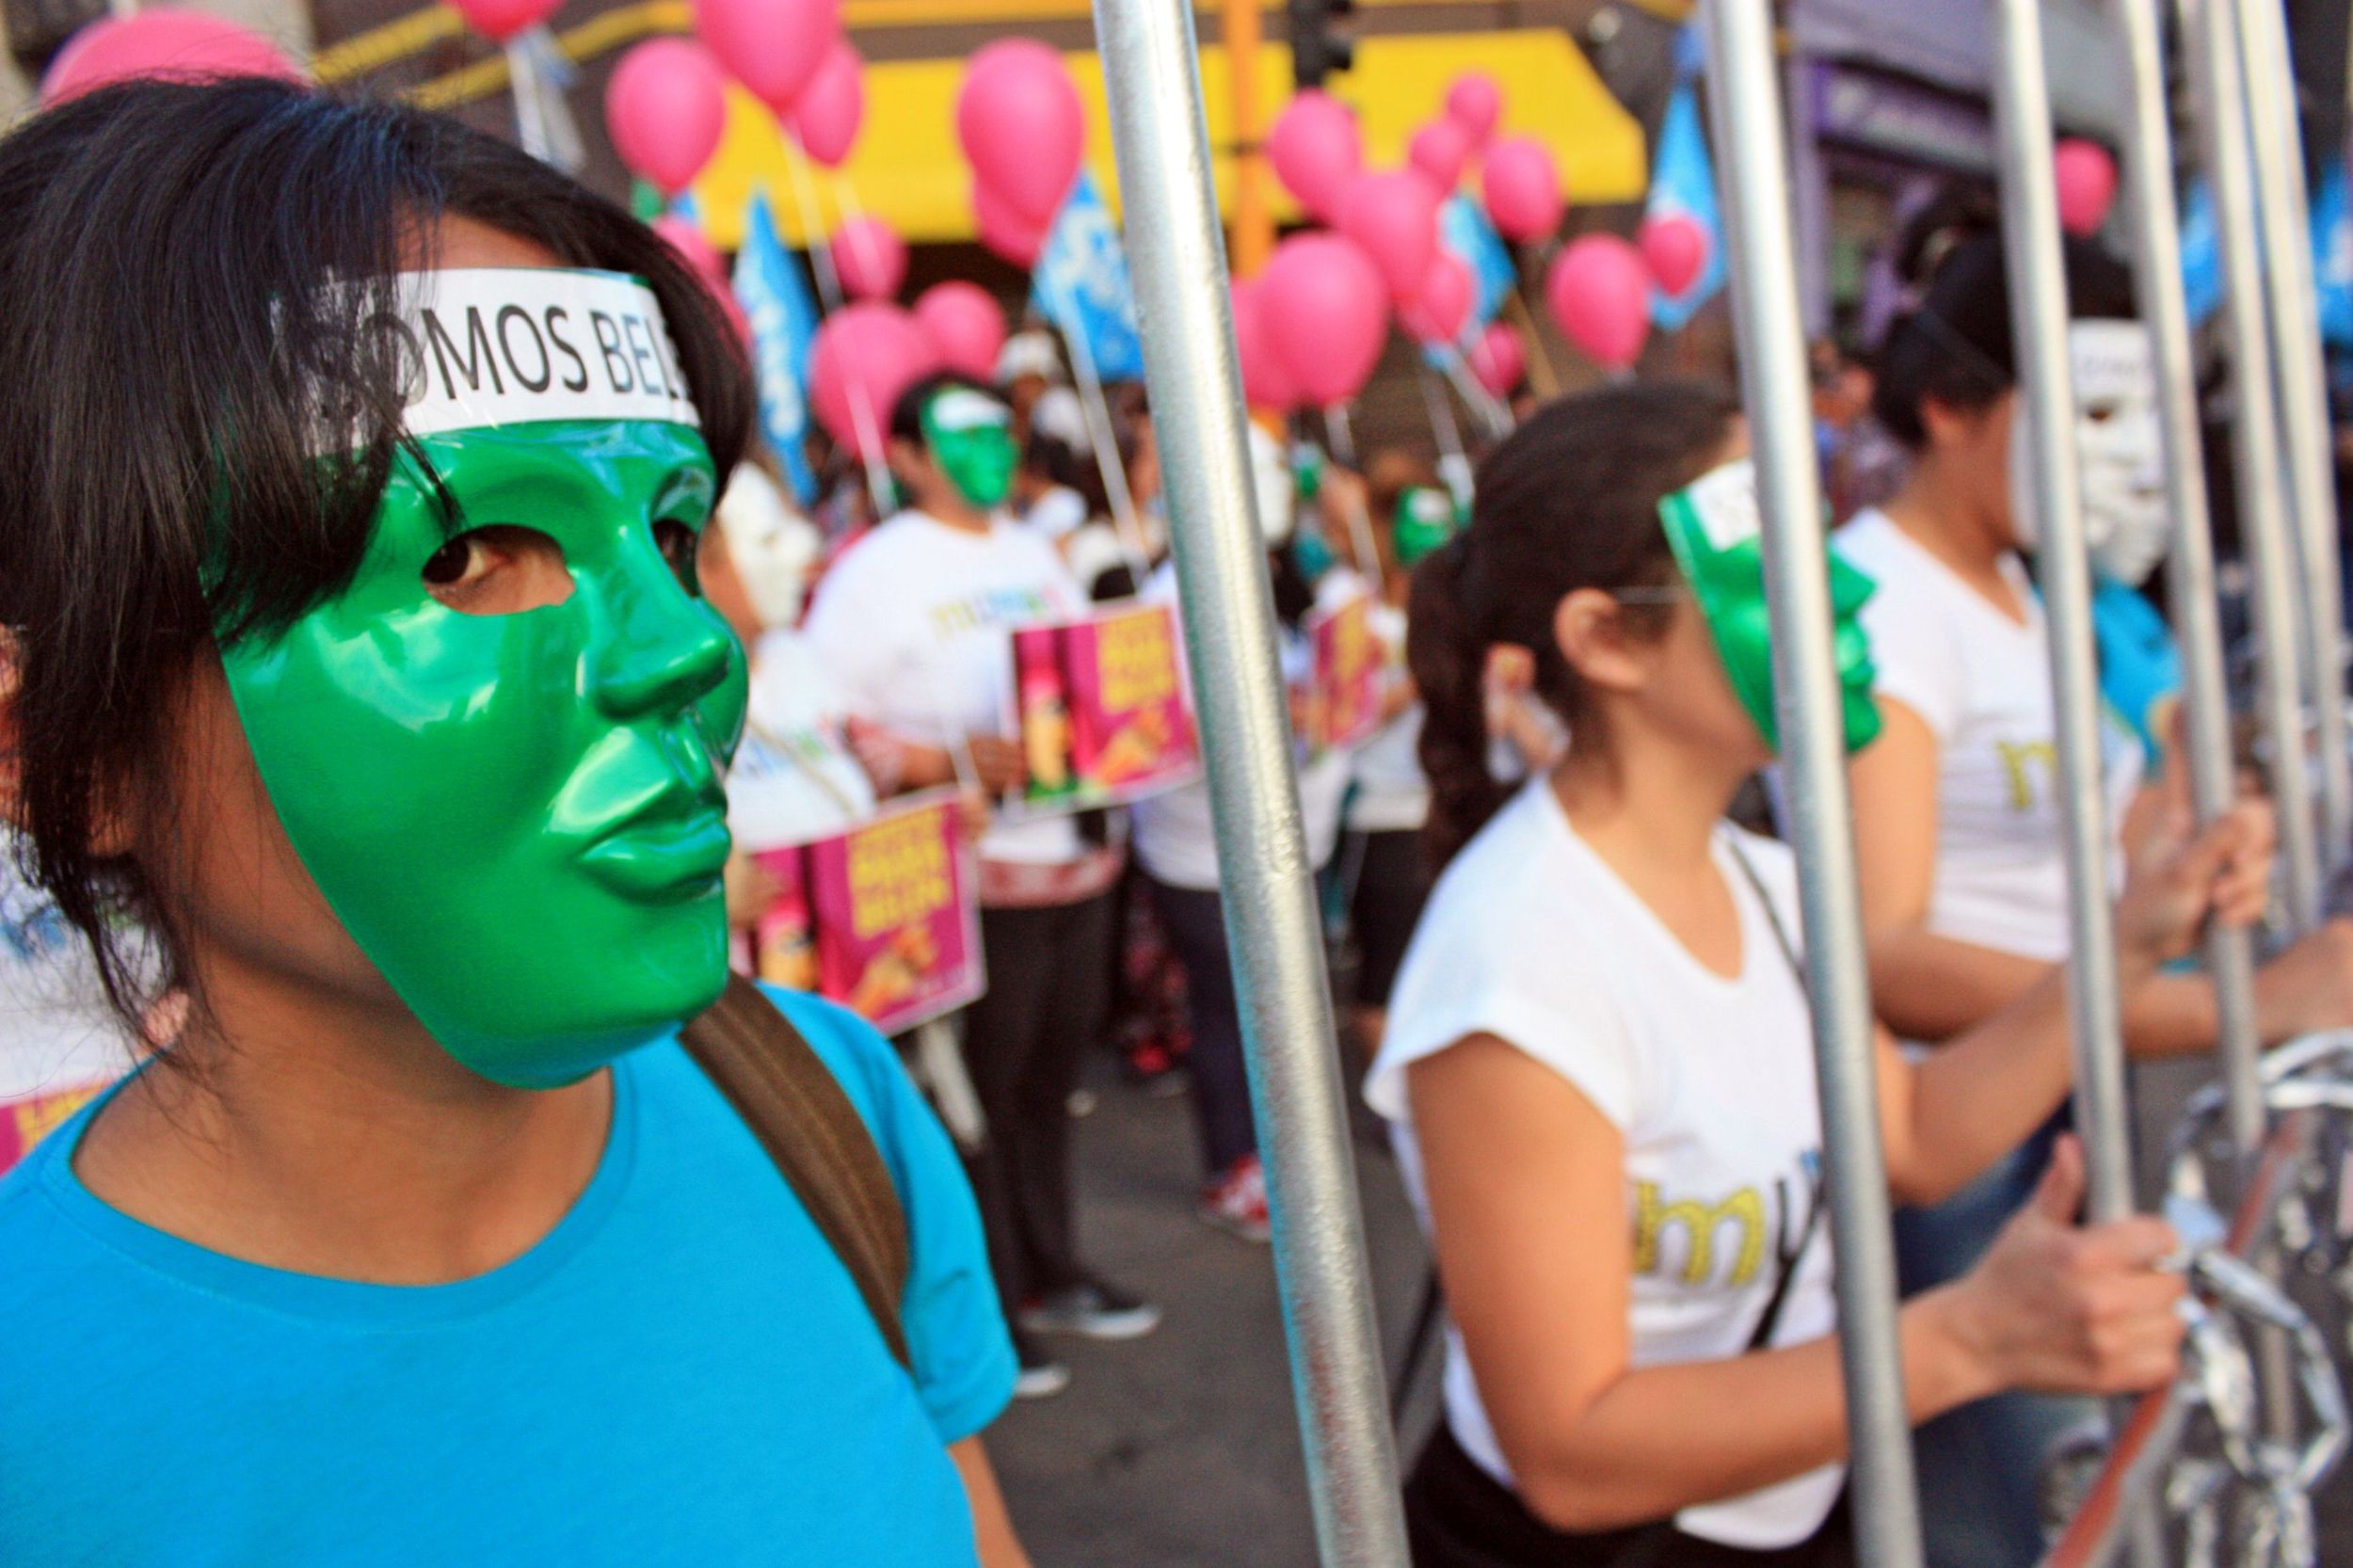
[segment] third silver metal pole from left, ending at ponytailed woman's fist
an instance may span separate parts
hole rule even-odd
[[[2092,640],[2092,556],[2082,542],[2075,469],[2075,372],[2068,360],[2066,264],[2052,153],[2049,80],[2035,0],[1993,7],[1993,104],[2002,158],[2002,250],[2017,339],[2019,412],[2040,542],[2035,579],[2052,650],[2052,713],[2066,838],[2068,1015],[2075,1041],[2075,1121],[2085,1144],[2085,1196],[2094,1224],[2132,1212],[2132,1114],[2125,1107],[2125,1017],[2115,977],[2099,664]]]

